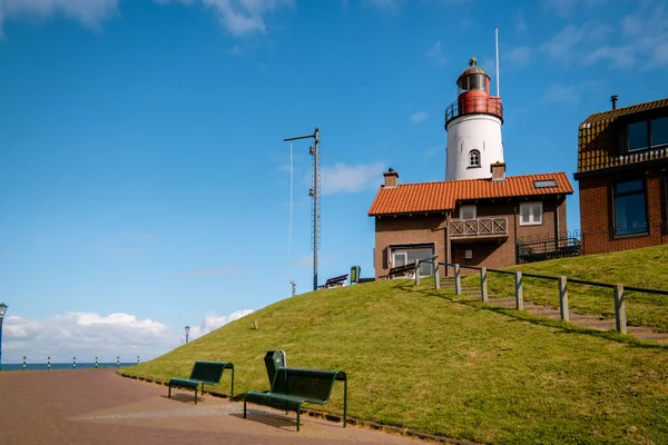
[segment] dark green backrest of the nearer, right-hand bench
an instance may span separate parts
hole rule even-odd
[[[330,399],[334,382],[345,379],[343,370],[279,367],[271,392],[324,404]]]

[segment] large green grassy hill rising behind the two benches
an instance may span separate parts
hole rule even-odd
[[[619,274],[633,283],[612,269],[626,268],[632,255],[656,255],[665,265],[667,254],[527,267],[560,275],[581,266],[591,279]],[[635,284],[666,279],[647,275]],[[124,373],[167,380],[187,376],[196,359],[230,360],[243,394],[268,389],[268,349],[286,350],[289,366],[344,369],[352,417],[482,443],[668,443],[667,347],[491,307],[429,283],[299,295]],[[215,389],[228,392],[228,382]],[[341,393],[336,386],[324,409],[340,414]]]

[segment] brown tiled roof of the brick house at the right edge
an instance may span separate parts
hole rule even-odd
[[[578,131],[578,172],[668,158],[668,150],[666,149],[619,156],[617,152],[617,135],[612,128],[615,121],[620,117],[664,107],[668,108],[668,98],[597,112],[588,117],[580,123]]]

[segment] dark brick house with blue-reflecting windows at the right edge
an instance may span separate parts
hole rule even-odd
[[[668,98],[588,117],[579,129],[583,254],[668,243]]]

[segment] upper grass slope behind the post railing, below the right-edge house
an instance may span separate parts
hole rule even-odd
[[[668,245],[533,263],[512,267],[510,270],[668,289]],[[491,294],[499,297],[514,296],[512,276],[489,274],[489,277]],[[478,276],[469,276],[465,280],[475,285],[480,283]],[[525,277],[523,286],[524,299],[559,306],[557,281]],[[668,296],[629,291],[625,296],[630,325],[668,332]],[[569,284],[569,308],[571,313],[615,318],[612,289]]]

